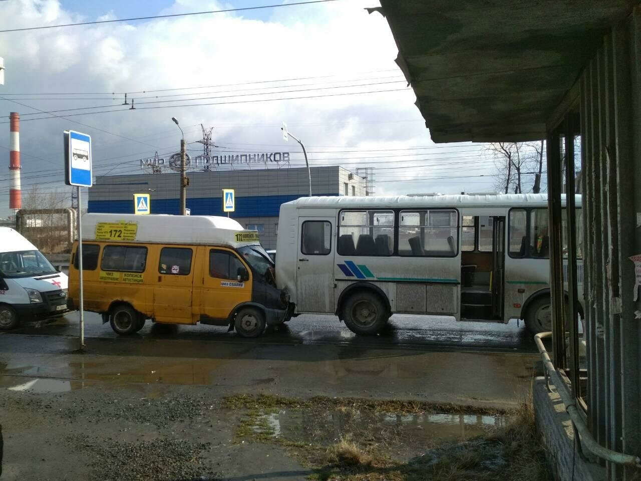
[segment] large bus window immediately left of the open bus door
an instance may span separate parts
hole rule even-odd
[[[399,255],[454,257],[458,251],[456,210],[402,210]]]

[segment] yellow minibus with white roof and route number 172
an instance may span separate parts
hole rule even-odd
[[[258,233],[228,217],[83,215],[85,310],[119,334],[154,323],[229,326],[257,337],[291,317]],[[78,242],[69,308],[79,305]]]

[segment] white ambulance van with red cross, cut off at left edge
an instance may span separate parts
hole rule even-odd
[[[20,233],[0,227],[0,330],[67,310],[67,276]]]

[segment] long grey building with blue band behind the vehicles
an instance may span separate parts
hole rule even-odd
[[[312,167],[314,196],[365,196],[365,179],[338,166]],[[216,170],[188,173],[191,215],[222,212],[222,189],[235,189],[231,217],[258,230],[266,249],[276,248],[280,205],[309,195],[306,168]],[[97,176],[89,190],[88,212],[133,214],[133,194],[150,194],[152,214],[179,214],[179,173]]]

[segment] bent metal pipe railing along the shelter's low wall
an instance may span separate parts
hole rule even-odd
[[[572,423],[574,423],[574,425],[576,426],[576,429],[579,432],[579,435],[581,437],[579,441],[583,443],[583,448],[585,448],[585,450],[592,453],[596,457],[599,457],[600,459],[614,462],[616,464],[624,464],[626,466],[634,466],[635,468],[641,468],[640,457],[635,455],[630,455],[630,454],[619,453],[617,451],[604,448],[603,446],[601,446],[601,444],[597,443],[594,437],[592,436],[592,434],[590,434],[590,431],[588,430],[588,426],[585,424],[585,421],[583,421],[583,416],[581,416],[581,412],[579,411],[579,409],[576,407],[574,403],[575,400],[570,396],[569,392],[567,392],[565,383],[563,382],[563,380],[561,379],[561,376],[559,376],[558,372],[556,371],[554,364],[550,359],[549,354],[547,353],[547,350],[545,350],[545,346],[543,344],[542,339],[544,339],[545,337],[550,337],[551,335],[552,335],[551,332],[539,333],[534,336],[534,342],[537,344],[538,352],[541,355],[543,365],[545,366],[545,369],[547,369],[547,372],[549,373],[553,384],[556,386],[556,392],[558,392],[561,398],[561,401],[565,405],[565,410],[567,414],[570,416]]]

